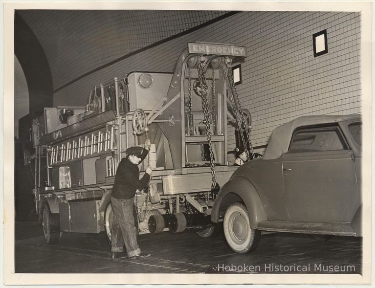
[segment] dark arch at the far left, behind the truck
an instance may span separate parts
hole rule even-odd
[[[44,50],[30,27],[17,11],[14,16],[14,54],[24,72],[29,92],[29,113],[19,121],[19,139],[15,139],[15,211],[17,220],[35,220],[33,165],[25,165],[23,152],[33,151],[29,140],[31,120],[52,106],[51,71]],[[6,73],[6,71],[5,71]]]

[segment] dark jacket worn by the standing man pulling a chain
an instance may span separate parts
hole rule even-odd
[[[147,154],[148,150],[143,149],[142,155],[139,158],[143,161]],[[138,165],[133,164],[128,157],[123,158],[117,167],[112,197],[116,199],[131,199],[135,196],[135,190],[145,188],[149,180],[150,175],[147,173],[139,179]]]

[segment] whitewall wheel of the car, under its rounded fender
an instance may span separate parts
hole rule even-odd
[[[242,203],[233,203],[226,209],[223,225],[226,242],[236,253],[255,250],[261,240],[261,232],[250,228],[247,209]]]

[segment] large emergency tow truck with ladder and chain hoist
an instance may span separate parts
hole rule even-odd
[[[86,107],[44,108],[32,122],[30,159],[46,242],[63,232],[105,231],[110,240],[117,164],[146,139],[153,145],[140,171],[153,173],[134,199],[139,233],[195,228],[209,237],[218,188],[237,168],[228,166],[227,126],[251,147],[231,70],[244,57],[242,46],[189,43],[173,73],[131,72],[92,89]]]

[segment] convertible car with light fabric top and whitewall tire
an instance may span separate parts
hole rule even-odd
[[[361,236],[362,118],[301,116],[277,127],[263,157],[240,166],[215,199],[237,253],[253,251],[261,231]]]

